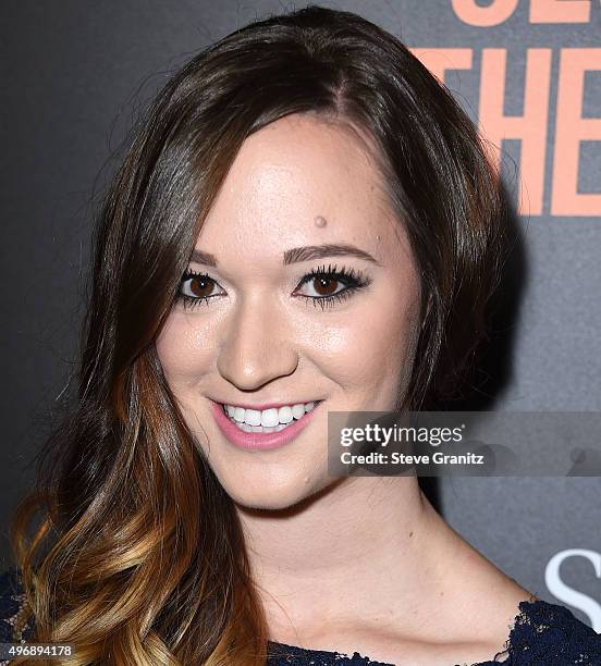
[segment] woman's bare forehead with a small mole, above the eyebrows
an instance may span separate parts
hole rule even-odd
[[[359,138],[311,116],[285,116],[243,144],[199,242],[365,243],[392,238],[392,217],[380,171]]]

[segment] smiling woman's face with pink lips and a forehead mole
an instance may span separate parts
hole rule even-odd
[[[394,409],[410,375],[418,275],[363,140],[299,114],[252,135],[204,223],[204,255],[189,263],[208,278],[183,280],[189,298],[157,341],[188,428],[243,506],[284,508],[335,482],[328,411]],[[273,415],[282,425],[293,419],[275,437],[296,434],[245,448],[226,427],[253,435],[216,403],[266,428]],[[315,409],[300,418],[308,403]],[[263,432],[259,446],[274,439]]]

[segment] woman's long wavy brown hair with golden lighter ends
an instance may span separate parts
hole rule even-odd
[[[76,399],[13,521],[34,640],[75,644],[64,664],[265,664],[241,523],[155,341],[243,141],[291,113],[360,127],[378,148],[422,284],[407,405],[455,390],[486,336],[506,246],[498,174],[473,123],[394,36],[309,5],[198,53],[135,128],[99,210]]]

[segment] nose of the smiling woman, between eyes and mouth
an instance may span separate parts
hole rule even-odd
[[[260,301],[260,303],[259,303]],[[281,306],[262,299],[240,303],[223,332],[217,367],[243,391],[259,388],[298,365],[292,326]]]

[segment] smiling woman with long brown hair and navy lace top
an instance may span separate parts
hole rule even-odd
[[[309,7],[191,60],[98,219],[4,640],[81,666],[598,663],[415,477],[328,473],[329,411],[461,388],[507,230],[470,121],[360,16]]]

